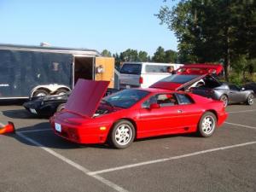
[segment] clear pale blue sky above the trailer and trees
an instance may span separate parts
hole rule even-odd
[[[175,1],[169,1],[168,5]],[[154,16],[163,0],[0,0],[0,44],[177,50],[177,38]]]

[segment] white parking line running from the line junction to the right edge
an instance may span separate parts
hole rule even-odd
[[[199,155],[199,154],[207,154],[207,153],[212,153],[212,152],[219,151],[219,150],[225,150],[225,149],[229,149],[229,148],[238,148],[238,147],[252,145],[252,144],[256,144],[256,141],[248,142],[248,143],[241,143],[241,144],[236,144],[236,145],[230,145],[230,146],[225,146],[225,147],[221,147],[221,148],[210,148],[210,149],[203,150],[203,151],[197,151],[197,152],[194,152],[191,154],[182,154],[182,155],[173,156],[173,157],[160,159],[160,160],[148,160],[148,161],[144,161],[141,163],[130,164],[130,165],[126,165],[126,166],[117,166],[117,167],[104,169],[104,170],[100,170],[100,171],[96,171],[96,172],[87,172],[87,174],[90,176],[93,176],[93,175],[102,174],[102,173],[106,173],[106,172],[115,172],[115,171],[129,169],[129,168],[136,167],[136,166],[146,166],[149,164],[155,164],[155,163],[160,163],[160,162],[165,162],[165,161],[170,161],[170,160],[178,160],[178,159],[183,159],[186,157],[191,157],[191,156],[195,156],[195,155]]]

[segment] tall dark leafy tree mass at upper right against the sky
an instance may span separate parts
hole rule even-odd
[[[156,16],[175,32],[181,61],[223,60],[226,80],[237,55],[256,57],[255,1],[181,0]]]

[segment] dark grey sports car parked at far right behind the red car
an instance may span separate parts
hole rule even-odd
[[[225,107],[230,103],[241,102],[253,105],[253,90],[246,90],[244,87],[239,87],[236,84],[220,82],[211,75],[204,77],[203,81],[204,83],[199,86],[190,88],[192,93],[223,101]]]

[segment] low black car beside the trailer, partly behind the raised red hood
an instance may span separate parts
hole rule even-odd
[[[105,96],[108,96],[118,90],[108,89]],[[51,116],[55,112],[59,112],[65,108],[65,103],[67,102],[68,96],[71,92],[67,92],[63,95],[55,96],[38,96],[32,97],[29,102],[23,104],[24,108],[30,113],[33,113],[38,116]]]

